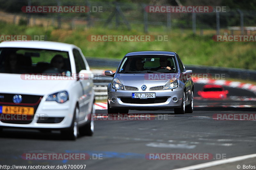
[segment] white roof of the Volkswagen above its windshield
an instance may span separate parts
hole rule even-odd
[[[4,41],[0,43],[0,48],[12,47],[12,48],[35,48],[35,49],[49,49],[49,50],[61,50],[69,51],[73,48],[78,48],[73,44],[58,43],[52,41]]]

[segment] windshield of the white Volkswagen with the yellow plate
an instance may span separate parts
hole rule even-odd
[[[67,51],[0,48],[0,73],[70,73]]]

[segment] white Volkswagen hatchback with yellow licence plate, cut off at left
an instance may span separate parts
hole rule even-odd
[[[60,130],[92,135],[92,72],[82,51],[57,42],[0,43],[0,131]]]

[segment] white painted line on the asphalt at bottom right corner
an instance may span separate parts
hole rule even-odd
[[[227,163],[231,163],[231,162],[237,162],[237,161],[241,161],[241,160],[245,160],[245,159],[250,159],[250,158],[256,158],[256,154],[243,155],[243,156],[227,158],[227,159],[222,159],[222,160],[215,160],[215,161],[206,162],[206,163],[203,163],[203,164],[186,166],[186,167],[182,167],[182,168],[178,168],[178,169],[173,169],[173,170],[203,169],[203,168],[208,168],[208,167],[212,167],[212,166],[227,164]]]

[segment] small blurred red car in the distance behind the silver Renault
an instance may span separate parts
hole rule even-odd
[[[203,98],[227,98],[228,90],[221,85],[207,84],[197,94]]]

